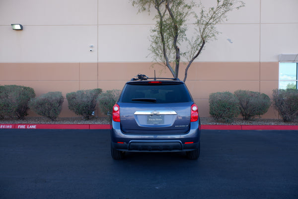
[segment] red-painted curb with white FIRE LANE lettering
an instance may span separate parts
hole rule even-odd
[[[0,129],[110,129],[109,124],[0,124]],[[203,130],[298,130],[298,125],[201,125]]]

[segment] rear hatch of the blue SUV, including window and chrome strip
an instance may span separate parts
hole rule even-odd
[[[183,134],[193,100],[183,82],[129,82],[118,101],[124,133]]]

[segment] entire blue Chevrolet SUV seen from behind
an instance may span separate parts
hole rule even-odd
[[[200,155],[198,106],[179,79],[138,75],[127,82],[113,106],[111,155],[125,152],[179,152]]]

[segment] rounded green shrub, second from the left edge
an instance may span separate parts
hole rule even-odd
[[[29,101],[29,107],[39,115],[56,120],[64,99],[61,92],[49,92]]]

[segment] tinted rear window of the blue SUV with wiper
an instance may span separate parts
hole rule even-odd
[[[184,84],[127,84],[119,101],[127,103],[181,103],[192,101],[192,99]]]

